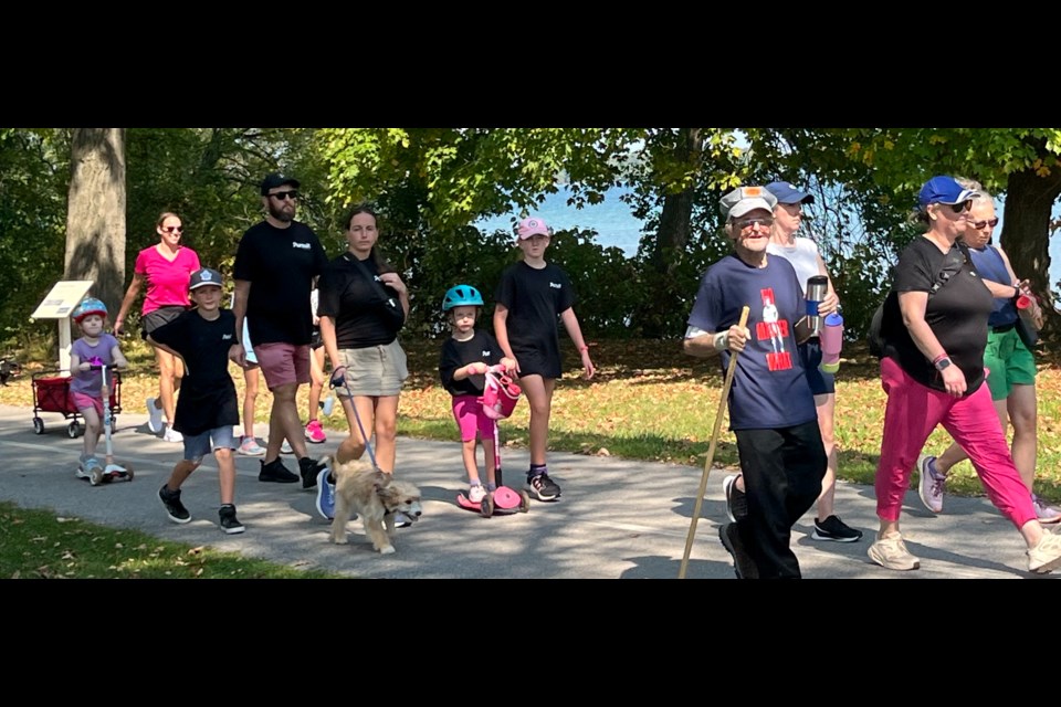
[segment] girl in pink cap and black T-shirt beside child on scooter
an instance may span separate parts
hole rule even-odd
[[[539,500],[555,500],[560,487],[549,478],[545,456],[553,391],[561,374],[557,316],[581,354],[587,379],[595,369],[572,308],[571,283],[564,271],[545,262],[551,230],[542,219],[529,218],[519,222],[517,234],[523,260],[502,274],[494,334],[505,356],[515,361],[530,404],[530,468],[525,488]]]

